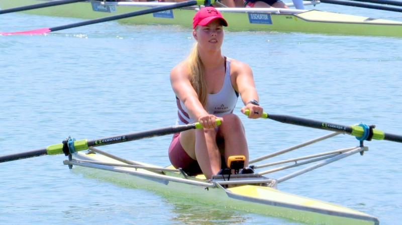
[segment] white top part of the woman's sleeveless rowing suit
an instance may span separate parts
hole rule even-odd
[[[209,114],[214,114],[217,117],[222,117],[225,114],[233,113],[235,109],[239,93],[232,86],[230,80],[230,58],[225,58],[225,80],[222,88],[218,93],[208,94],[206,111]],[[177,122],[176,125],[184,125],[196,122],[196,119],[188,115],[187,108],[177,97]]]

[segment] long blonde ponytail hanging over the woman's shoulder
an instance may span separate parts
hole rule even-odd
[[[198,100],[205,106],[207,104],[207,83],[205,81],[204,64],[199,58],[198,43],[195,42],[190,54],[187,57],[187,66],[190,70],[190,82],[198,95]]]

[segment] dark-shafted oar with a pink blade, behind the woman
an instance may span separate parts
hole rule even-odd
[[[60,30],[65,30],[65,29],[69,29],[69,28],[74,28],[74,27],[81,27],[81,26],[85,26],[85,25],[91,25],[91,24],[119,20],[119,19],[124,19],[124,18],[129,18],[129,17],[141,16],[141,15],[150,14],[150,13],[157,13],[160,11],[173,10],[173,9],[177,9],[177,8],[193,6],[196,4],[197,4],[197,2],[192,0],[192,1],[186,1],[186,2],[181,2],[181,3],[175,3],[172,5],[168,5],[168,6],[158,6],[158,7],[154,7],[154,8],[139,10],[139,11],[125,13],[125,14],[119,14],[119,15],[114,15],[114,16],[109,16],[109,17],[102,17],[102,18],[98,18],[98,19],[83,21],[83,22],[79,22],[79,23],[75,23],[75,24],[69,24],[69,25],[64,25],[64,26],[59,26],[59,27],[54,27],[54,28],[40,28],[40,29],[36,29],[36,30],[20,31],[20,32],[0,32],[0,34],[2,34],[2,35],[46,34],[46,33],[53,32],[53,31],[60,31]]]

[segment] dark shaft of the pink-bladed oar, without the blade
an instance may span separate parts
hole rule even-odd
[[[150,14],[150,13],[156,13],[156,12],[165,11],[165,10],[172,10],[172,9],[181,8],[181,7],[188,7],[188,6],[193,6],[193,5],[196,5],[196,4],[197,4],[196,1],[186,1],[186,2],[181,2],[181,3],[176,3],[176,4],[173,4],[173,5],[169,5],[169,6],[158,6],[158,7],[154,7],[154,8],[145,9],[145,10],[139,10],[139,11],[136,11],[136,12],[119,14],[119,15],[114,15],[114,16],[109,16],[109,17],[102,17],[102,18],[83,21],[83,22],[79,22],[79,23],[75,23],[75,24],[69,24],[69,25],[49,28],[49,30],[51,30],[51,31],[59,31],[59,30],[75,28],[75,27],[80,27],[80,26],[86,26],[86,25],[91,25],[91,24],[97,24],[97,23],[102,23],[102,22],[107,22],[107,21],[113,21],[113,20],[129,18],[129,17],[141,16],[141,15]]]

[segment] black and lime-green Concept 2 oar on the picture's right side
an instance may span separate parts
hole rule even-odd
[[[249,114],[250,111],[246,109],[245,115]],[[261,118],[271,119],[284,124],[293,124],[303,127],[317,128],[321,130],[335,131],[343,134],[349,134],[355,136],[356,139],[359,141],[364,140],[371,141],[372,139],[375,139],[375,140],[386,140],[386,141],[402,143],[402,136],[384,133],[381,130],[374,129],[372,126],[367,126],[364,124],[345,126],[300,117],[293,117],[288,115],[273,115],[267,113],[263,113]]]

